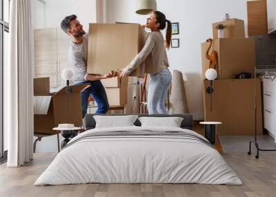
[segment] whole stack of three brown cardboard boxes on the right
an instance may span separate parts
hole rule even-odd
[[[216,26],[226,25],[224,38],[217,38]],[[210,110],[210,94],[205,79],[209,63],[206,50],[210,43],[201,44],[202,78],[204,79],[204,119],[220,121],[219,134],[254,134],[254,79],[235,79],[236,74],[250,72],[254,76],[255,42],[245,38],[244,21],[229,19],[213,23],[213,45],[210,52],[217,52],[217,80],[213,82],[213,109]],[[209,54],[210,54],[209,52]],[[257,134],[262,134],[261,83],[257,80]]]

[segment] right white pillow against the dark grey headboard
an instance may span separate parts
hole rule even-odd
[[[180,117],[139,117],[142,127],[180,127],[183,118]]]

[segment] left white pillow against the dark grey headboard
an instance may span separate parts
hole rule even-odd
[[[96,128],[104,127],[129,127],[135,126],[137,115],[127,115],[127,116],[99,116],[95,115],[93,118],[96,121]]]

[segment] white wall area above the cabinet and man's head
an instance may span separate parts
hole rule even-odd
[[[88,32],[88,24],[96,22],[96,0],[33,0],[34,29],[60,27],[62,19],[76,14]]]

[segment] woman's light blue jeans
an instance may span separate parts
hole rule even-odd
[[[148,86],[148,112],[149,114],[167,114],[166,96],[172,74],[168,68],[157,74],[150,74],[150,85]]]

